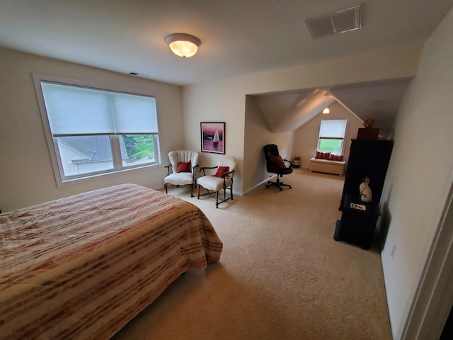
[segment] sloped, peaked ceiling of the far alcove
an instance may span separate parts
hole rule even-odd
[[[300,128],[326,106],[338,101],[360,120],[373,119],[382,137],[392,137],[398,108],[411,79],[349,84],[323,89],[301,89],[256,94],[258,106],[270,131],[289,132]]]

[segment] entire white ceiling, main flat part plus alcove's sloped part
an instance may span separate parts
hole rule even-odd
[[[367,0],[362,28],[311,39],[304,20],[355,0],[0,0],[0,46],[188,85],[425,41],[453,0]],[[188,33],[197,55],[173,55],[165,37]],[[131,76],[132,77],[132,76]],[[260,96],[271,130],[306,123],[328,91],[388,130],[410,79]],[[316,108],[316,103],[319,106]]]

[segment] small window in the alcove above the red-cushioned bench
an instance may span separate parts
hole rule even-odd
[[[323,119],[319,128],[318,151],[343,154],[346,132],[345,119]]]

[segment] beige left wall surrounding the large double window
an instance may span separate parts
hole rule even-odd
[[[180,86],[108,72],[0,48],[0,209],[23,208],[117,183],[161,188],[163,166],[98,176],[88,183],[57,188],[38,108],[32,73],[88,81],[124,91],[156,96],[161,152],[183,148],[184,130]]]

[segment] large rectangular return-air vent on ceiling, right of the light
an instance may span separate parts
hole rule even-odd
[[[362,28],[362,5],[309,18],[306,19],[305,24],[313,39],[358,30]]]

